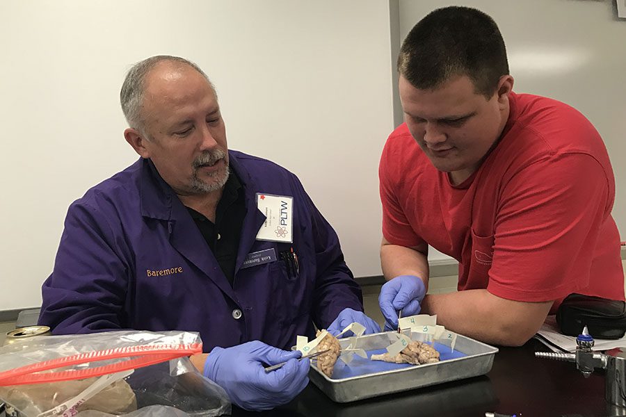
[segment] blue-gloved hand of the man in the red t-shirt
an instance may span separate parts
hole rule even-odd
[[[415,275],[400,275],[385,283],[378,295],[380,311],[385,316],[385,331],[398,328],[398,311],[402,310],[403,317],[419,314],[422,309],[419,303],[424,295],[424,281]]]

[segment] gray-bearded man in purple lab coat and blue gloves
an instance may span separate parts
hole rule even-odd
[[[287,349],[314,325],[379,332],[337,234],[294,174],[229,151],[215,90],[183,58],[154,56],[122,85],[124,136],[141,156],[67,213],[39,323],[54,334],[200,332],[204,375],[246,409],[306,386]],[[270,374],[263,363],[288,361]]]

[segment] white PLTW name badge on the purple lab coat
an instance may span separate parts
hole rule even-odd
[[[257,193],[257,208],[266,217],[257,240],[293,243],[294,197]]]

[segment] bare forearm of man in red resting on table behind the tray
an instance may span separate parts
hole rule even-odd
[[[541,327],[552,302],[517,302],[487,290],[426,295],[422,313],[453,332],[497,345],[523,345]]]

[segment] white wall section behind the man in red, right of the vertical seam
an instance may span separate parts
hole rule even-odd
[[[498,24],[513,90],[565,101],[604,138],[616,177],[613,217],[626,240],[626,19],[613,0],[400,0],[400,35],[435,8],[470,6]]]

